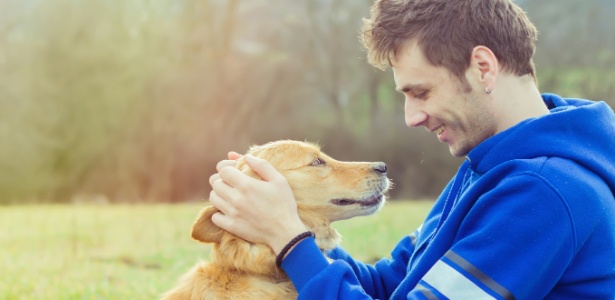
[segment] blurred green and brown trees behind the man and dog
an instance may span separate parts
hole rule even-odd
[[[459,160],[366,63],[371,2],[0,0],[0,203],[206,198],[227,151],[277,139],[434,197]],[[518,3],[541,90],[613,105],[615,2]]]

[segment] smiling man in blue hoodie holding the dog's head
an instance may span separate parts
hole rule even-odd
[[[407,125],[467,157],[390,259],[370,266],[334,249],[329,264],[312,237],[294,239],[306,229],[284,178],[249,156],[264,181],[242,175],[229,167],[236,153],[210,178],[213,222],[282,252],[299,299],[614,299],[615,116],[604,102],[541,95],[535,40],[509,0],[372,7],[363,43],[372,64],[392,67]]]

